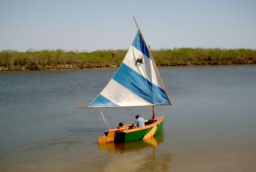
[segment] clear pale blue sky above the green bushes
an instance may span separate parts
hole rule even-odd
[[[0,50],[256,49],[256,0],[0,0]]]

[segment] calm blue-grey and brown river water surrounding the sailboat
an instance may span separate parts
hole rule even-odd
[[[149,141],[98,146],[151,107],[74,109],[116,69],[0,73],[0,171],[256,171],[256,66],[159,68],[172,106]]]

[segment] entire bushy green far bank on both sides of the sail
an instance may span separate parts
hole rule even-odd
[[[2,50],[0,71],[118,67],[126,53],[126,49],[94,52]],[[175,48],[151,50],[151,53],[158,66],[256,64],[255,49]]]

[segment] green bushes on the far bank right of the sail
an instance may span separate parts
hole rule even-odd
[[[256,64],[255,49],[175,48],[151,53],[158,65]]]

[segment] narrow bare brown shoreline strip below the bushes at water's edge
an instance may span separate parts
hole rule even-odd
[[[224,62],[224,63],[219,63],[219,64],[157,64],[157,67],[202,67],[202,66],[221,66],[221,65],[253,65],[255,63],[248,62],[245,64],[235,64],[231,62]],[[47,70],[74,70],[74,69],[111,69],[111,68],[119,68],[119,65],[114,65],[114,64],[89,64],[89,65],[80,65],[80,64],[64,64],[64,65],[47,65],[45,67],[37,67],[37,68],[26,68],[24,66],[22,67],[15,67],[15,68],[10,68],[10,67],[0,67],[0,72],[26,72],[26,71],[36,71],[36,70],[42,70],[42,71],[47,71]]]

